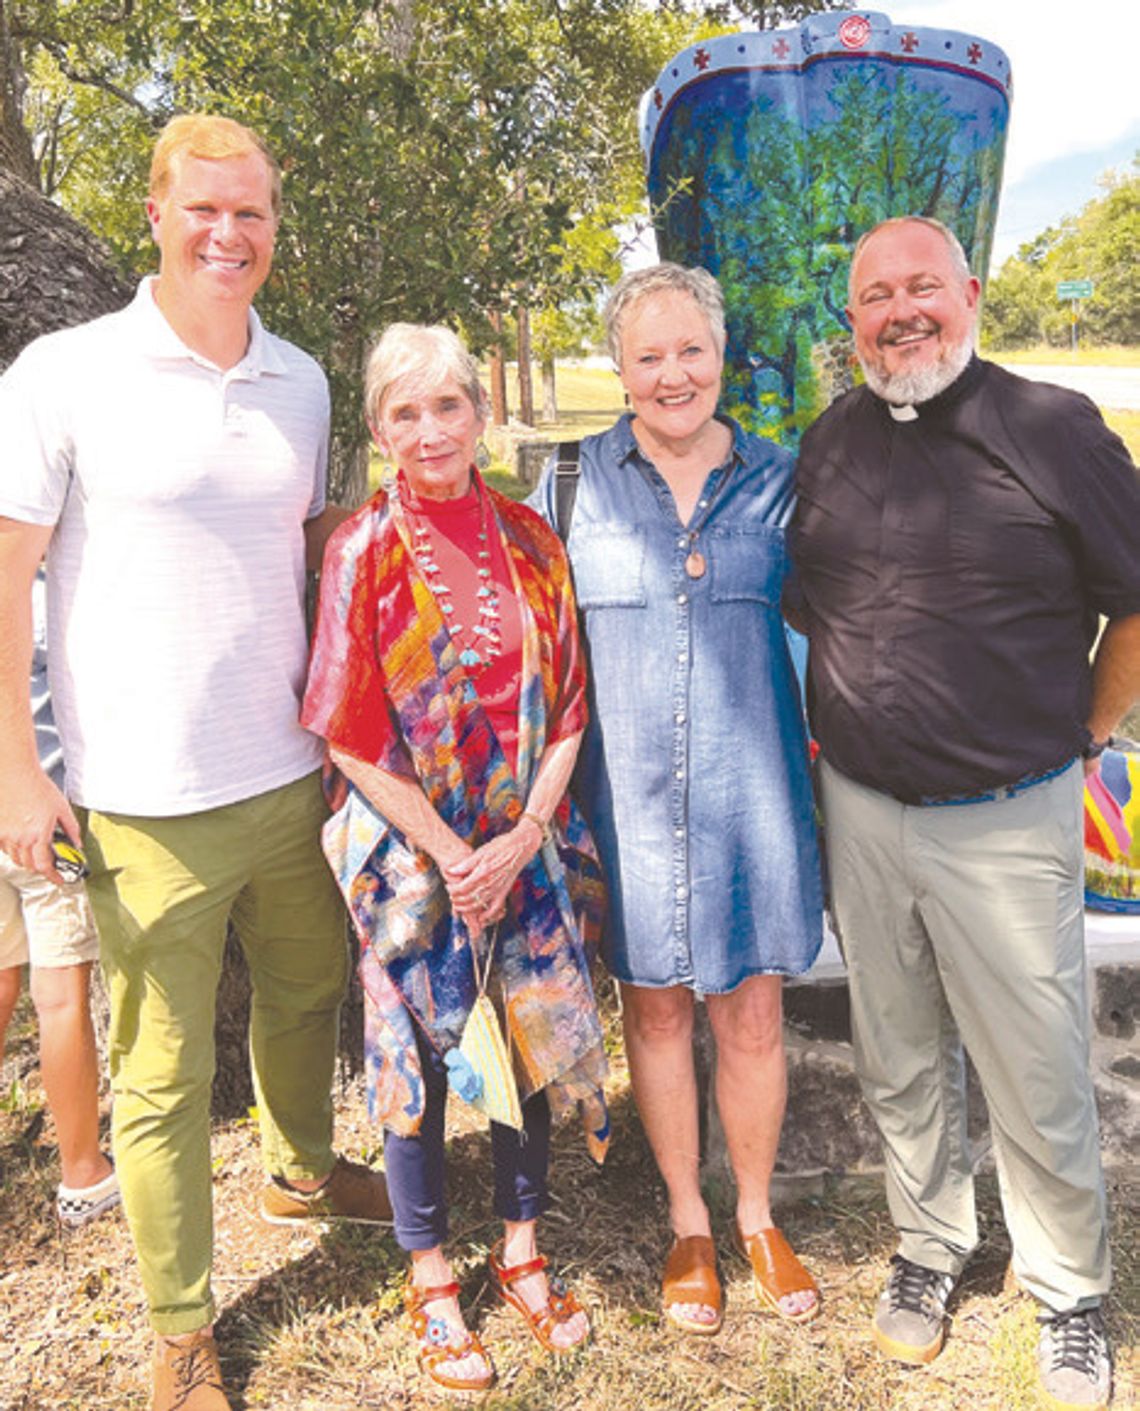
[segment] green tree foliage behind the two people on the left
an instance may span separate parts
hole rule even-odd
[[[285,172],[261,296],[333,387],[358,480],[360,375],[394,319],[590,301],[643,200],[636,106],[693,28],[641,0],[16,0],[41,182],[152,267],[142,196],[174,111],[257,128]],[[341,488],[340,485],[334,485]]]

